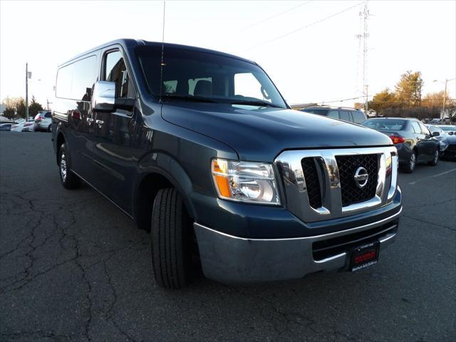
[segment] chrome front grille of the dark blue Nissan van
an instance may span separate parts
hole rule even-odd
[[[393,146],[290,150],[274,162],[284,187],[285,205],[304,222],[366,212],[390,202],[395,195],[398,156]],[[362,191],[353,189],[352,183],[353,167],[358,164],[366,168],[370,179]]]

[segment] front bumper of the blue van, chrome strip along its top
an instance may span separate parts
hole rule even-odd
[[[372,239],[380,241],[381,254],[395,239],[401,211],[363,226],[312,237],[248,239],[198,223],[194,227],[207,278],[224,283],[278,281],[344,269],[349,250]]]

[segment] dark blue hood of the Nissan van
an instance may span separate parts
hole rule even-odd
[[[165,103],[162,118],[234,148],[241,160],[272,162],[282,150],[391,145],[361,125],[283,108]]]

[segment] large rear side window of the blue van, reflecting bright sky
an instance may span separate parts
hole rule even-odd
[[[80,59],[60,68],[57,73],[56,97],[90,101],[96,74],[95,56]]]

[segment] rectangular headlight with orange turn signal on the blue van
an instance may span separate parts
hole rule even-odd
[[[212,178],[220,198],[280,204],[274,169],[269,163],[214,159]]]

